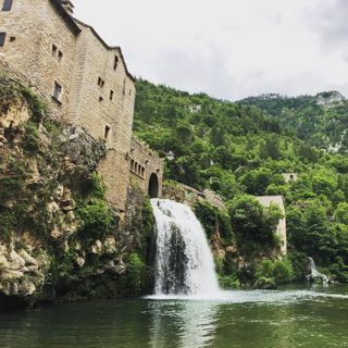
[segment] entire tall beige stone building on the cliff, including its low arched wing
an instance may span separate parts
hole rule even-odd
[[[108,201],[123,211],[130,175],[160,195],[163,161],[132,140],[135,78],[121,48],[74,18],[73,8],[65,0],[0,0],[0,60],[30,80],[51,114],[105,140],[99,171]]]

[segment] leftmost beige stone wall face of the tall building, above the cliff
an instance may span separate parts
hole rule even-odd
[[[30,79],[33,87],[46,97],[51,113],[65,115],[76,36],[57,15],[51,2],[14,1],[11,11],[1,12],[0,32],[7,33],[0,59]],[[57,48],[54,52],[53,46]],[[54,82],[63,88],[60,101],[52,99]]]

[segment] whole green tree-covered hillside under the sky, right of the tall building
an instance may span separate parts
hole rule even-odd
[[[326,145],[344,134],[347,104],[328,95],[234,103],[139,79],[135,133],[166,157],[166,178],[223,197],[237,243],[264,244],[262,224],[272,226],[272,212],[262,215],[248,195],[283,195],[290,276],[303,275],[307,254],[348,281],[348,159],[321,150],[326,133]],[[299,177],[286,183],[282,173]]]

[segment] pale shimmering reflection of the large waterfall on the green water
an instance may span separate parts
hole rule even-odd
[[[216,310],[213,302],[151,301],[150,346],[208,347],[214,339]]]

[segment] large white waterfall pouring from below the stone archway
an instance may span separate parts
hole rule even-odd
[[[219,293],[206,233],[191,209],[152,199],[157,226],[156,294],[211,296]]]

